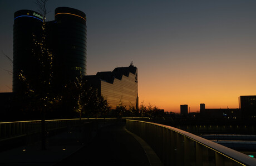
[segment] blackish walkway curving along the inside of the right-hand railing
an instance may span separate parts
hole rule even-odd
[[[59,165],[150,165],[141,144],[120,123],[99,129],[92,142]]]

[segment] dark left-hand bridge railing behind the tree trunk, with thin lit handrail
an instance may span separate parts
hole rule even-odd
[[[0,152],[40,142],[45,148],[50,140],[68,142],[77,139],[85,143],[91,140],[95,128],[93,122],[79,119],[46,120],[44,128],[41,121],[0,122]],[[57,137],[63,133],[66,137]]]

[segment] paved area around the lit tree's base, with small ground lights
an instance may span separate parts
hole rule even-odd
[[[0,165],[54,165],[83,146],[80,138],[77,129],[73,129],[48,138],[43,151],[40,142],[3,151]]]

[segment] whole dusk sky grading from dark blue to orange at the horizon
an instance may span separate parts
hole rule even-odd
[[[139,97],[179,112],[238,108],[238,97],[256,95],[256,1],[88,0],[47,4],[87,16],[87,75],[138,68]],[[0,1],[0,92],[12,91],[13,14],[37,11],[35,1]],[[3,51],[3,53],[2,53]]]

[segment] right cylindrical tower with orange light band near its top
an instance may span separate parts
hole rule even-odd
[[[56,76],[66,82],[86,75],[86,15],[77,9],[55,9]],[[63,83],[62,82],[62,83]]]

